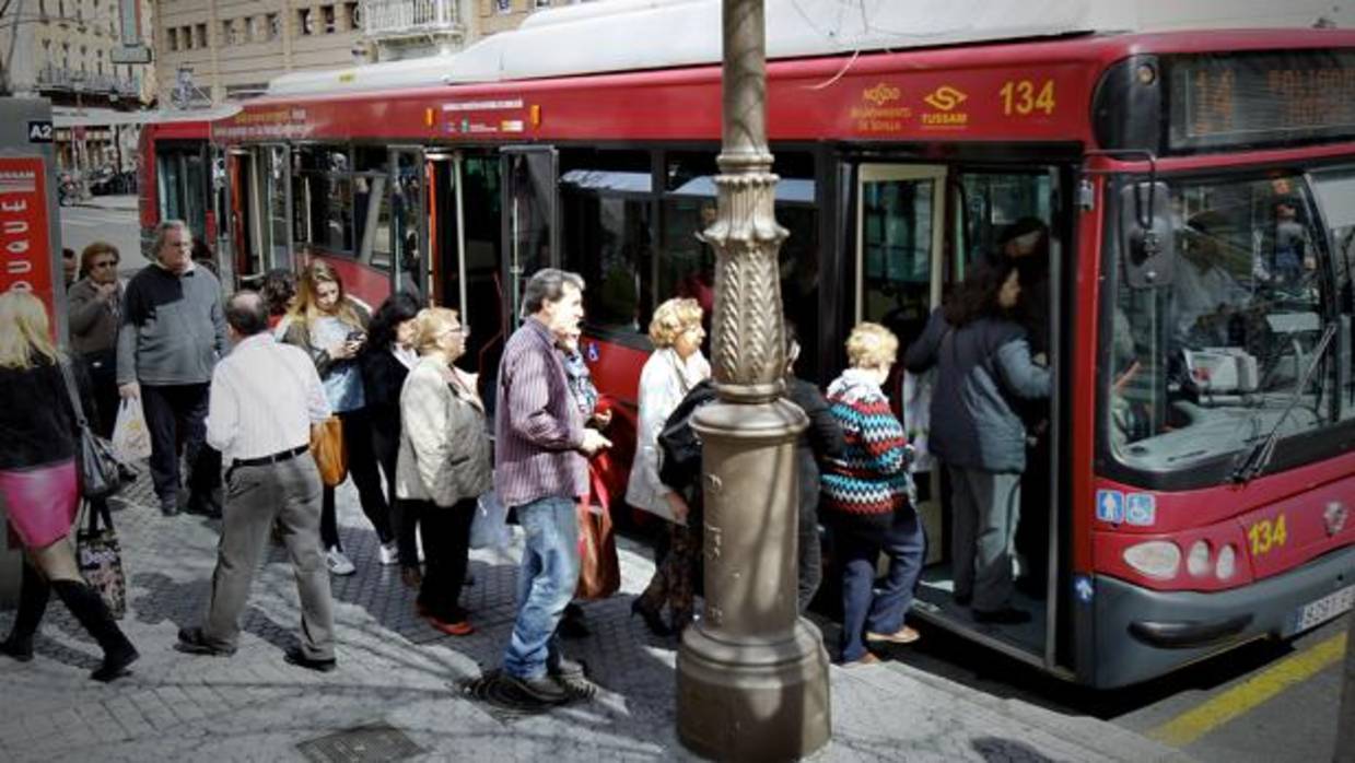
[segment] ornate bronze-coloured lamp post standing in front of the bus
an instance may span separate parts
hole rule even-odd
[[[715,178],[713,370],[703,442],[706,613],[678,652],[678,736],[718,759],[808,755],[831,733],[828,655],[795,609],[795,436],[786,369],[767,149],[762,0],[724,1],[724,146]]]

